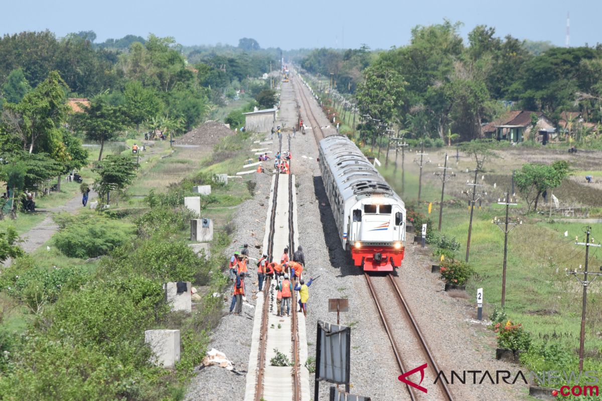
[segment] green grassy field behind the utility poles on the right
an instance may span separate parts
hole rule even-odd
[[[415,180],[415,174],[410,181]],[[414,176],[414,178],[412,178]],[[393,183],[399,190],[399,182]],[[406,187],[408,188],[408,187]],[[429,198],[429,192],[424,200]],[[436,198],[435,198],[436,199]],[[464,259],[468,233],[468,209],[465,203],[444,209],[442,234],[456,237],[462,243],[458,259]],[[426,204],[419,210],[426,214]],[[483,288],[485,311],[501,304],[501,276],[504,234],[492,219],[501,217],[503,208],[497,204],[474,211],[470,247],[470,264],[477,275],[468,281],[468,294]],[[518,215],[518,210],[510,212]],[[431,217],[433,219],[433,217]],[[567,349],[579,348],[582,287],[575,278],[565,275],[565,268],[579,268],[585,263],[585,247],[574,244],[575,236],[585,242],[583,224],[547,222],[538,217],[523,216],[524,223],[509,234],[506,272],[506,311],[510,319],[523,323],[536,341],[560,342]],[[434,219],[433,219],[434,221]],[[568,231],[568,236],[564,232]],[[602,227],[594,225],[592,237],[602,239]],[[599,271],[602,253],[597,248],[589,254],[590,271]],[[588,324],[586,353],[598,355],[602,338],[597,327],[602,323],[599,313],[601,287],[594,283],[588,291]],[[471,297],[472,299],[472,297]]]

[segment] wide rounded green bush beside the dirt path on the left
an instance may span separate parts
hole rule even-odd
[[[102,215],[79,215],[64,218],[53,237],[54,244],[66,256],[87,259],[108,254],[131,239],[129,225]]]

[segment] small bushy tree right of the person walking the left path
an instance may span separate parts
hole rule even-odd
[[[92,170],[100,176],[94,182],[94,189],[102,197],[111,191],[122,191],[134,180],[136,162],[128,156],[108,155]]]

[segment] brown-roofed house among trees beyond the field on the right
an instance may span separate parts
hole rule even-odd
[[[552,138],[556,129],[552,121],[541,111],[510,111],[503,118],[483,126],[483,135],[498,141],[523,142],[525,138],[529,138],[531,133],[532,114],[538,118],[535,126],[537,129],[535,140],[545,145]]]

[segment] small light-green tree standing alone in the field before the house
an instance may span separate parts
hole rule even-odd
[[[527,213],[531,210],[537,212],[539,196],[548,189],[554,189],[568,176],[568,163],[556,161],[551,165],[527,163],[517,171],[514,181],[518,190],[527,201]]]

